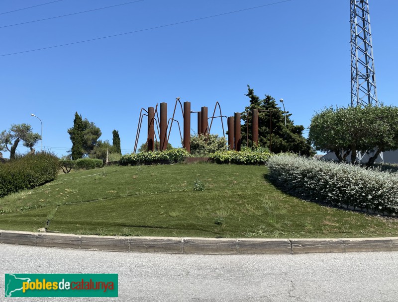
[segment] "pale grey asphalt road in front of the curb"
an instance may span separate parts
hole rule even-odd
[[[117,273],[119,298],[4,298],[4,273]],[[0,243],[0,301],[397,302],[398,252],[176,255]]]

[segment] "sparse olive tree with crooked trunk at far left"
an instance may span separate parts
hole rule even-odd
[[[38,133],[33,133],[30,125],[12,124],[8,131],[4,130],[0,134],[0,150],[9,151],[9,158],[14,159],[15,151],[20,141],[23,142],[23,146],[34,152],[33,146],[39,140],[41,140],[41,136]],[[9,148],[8,145],[10,145]]]

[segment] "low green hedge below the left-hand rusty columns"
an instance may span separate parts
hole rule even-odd
[[[167,160],[169,162],[181,162],[185,158],[189,157],[190,154],[185,149],[173,148],[165,151],[153,151],[153,152],[140,152],[137,154],[125,154],[120,158],[121,165],[134,165],[140,163],[152,163],[159,160]]]

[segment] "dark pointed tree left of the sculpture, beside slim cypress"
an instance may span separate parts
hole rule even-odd
[[[77,112],[73,120],[73,127],[68,129],[68,133],[72,141],[72,159],[88,156],[101,136],[100,128],[87,118],[83,120]]]

